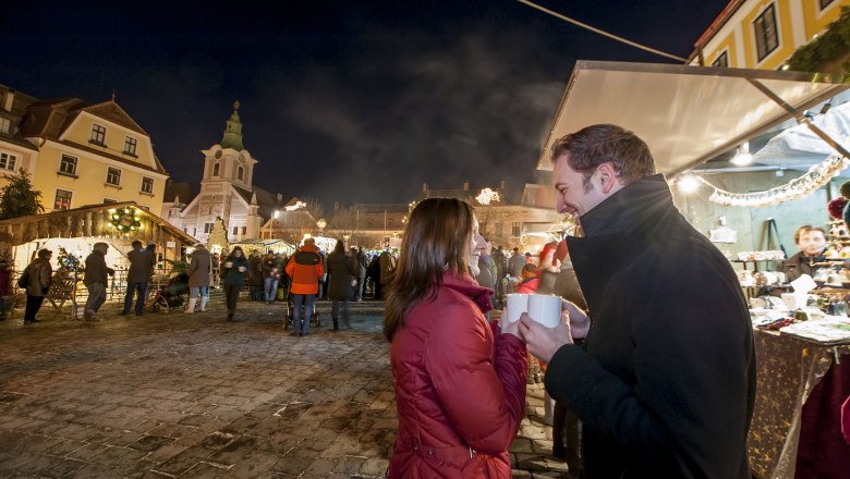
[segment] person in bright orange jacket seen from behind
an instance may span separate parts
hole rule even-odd
[[[318,281],[325,274],[321,256],[312,237],[304,240],[304,245],[287,263],[287,274],[292,279],[290,293],[295,297],[294,328],[299,336],[309,334],[309,317],[313,316],[313,302],[318,294]],[[304,306],[304,324],[301,324],[301,307]]]

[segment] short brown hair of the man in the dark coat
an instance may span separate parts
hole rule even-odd
[[[551,162],[569,153],[567,162],[584,173],[584,185],[590,188],[591,175],[603,163],[610,162],[617,177],[628,185],[655,174],[655,161],[649,147],[634,133],[617,125],[586,126],[564,135],[551,146]]]

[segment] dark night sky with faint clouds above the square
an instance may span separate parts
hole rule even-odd
[[[123,3],[0,0],[0,83],[114,91],[196,188],[239,99],[254,184],[326,205],[406,202],[423,182],[517,194],[576,59],[671,62],[512,0]],[[537,3],[688,57],[728,0]]]

